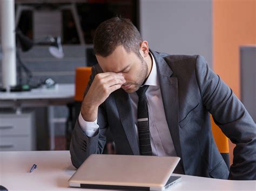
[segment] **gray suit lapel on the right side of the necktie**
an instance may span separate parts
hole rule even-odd
[[[172,76],[172,70],[165,60],[158,53],[151,51],[156,61],[161,95],[163,98],[166,121],[171,133],[174,148],[177,156],[181,158],[183,166],[180,139],[179,139],[179,100],[178,100],[178,79]]]

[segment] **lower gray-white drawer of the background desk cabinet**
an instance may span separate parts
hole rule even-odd
[[[30,137],[0,137],[0,151],[31,151]]]

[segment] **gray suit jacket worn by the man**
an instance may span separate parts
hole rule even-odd
[[[256,126],[244,105],[200,55],[151,51],[157,64],[165,116],[184,174],[218,179],[256,179]],[[92,75],[85,94],[97,73]],[[75,167],[93,153],[102,153],[110,128],[118,154],[139,155],[129,94],[114,91],[98,110],[99,131],[87,137],[76,123],[70,153]],[[237,146],[230,172],[214,142],[209,112]]]

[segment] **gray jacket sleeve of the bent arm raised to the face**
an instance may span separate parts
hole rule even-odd
[[[91,83],[97,74],[96,68],[92,67],[90,81],[85,90],[85,94],[89,90]],[[75,128],[72,131],[70,154],[73,166],[78,168],[91,154],[102,154],[106,143],[106,130],[108,127],[104,103],[98,108],[97,123],[99,125],[97,135],[88,137],[79,126],[78,119]]]

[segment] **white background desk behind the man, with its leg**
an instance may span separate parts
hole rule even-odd
[[[21,114],[22,108],[48,107],[48,123],[51,150],[55,148],[52,105],[65,105],[73,101],[74,84],[57,84],[55,88],[37,88],[31,91],[0,93],[0,108],[14,108]]]

